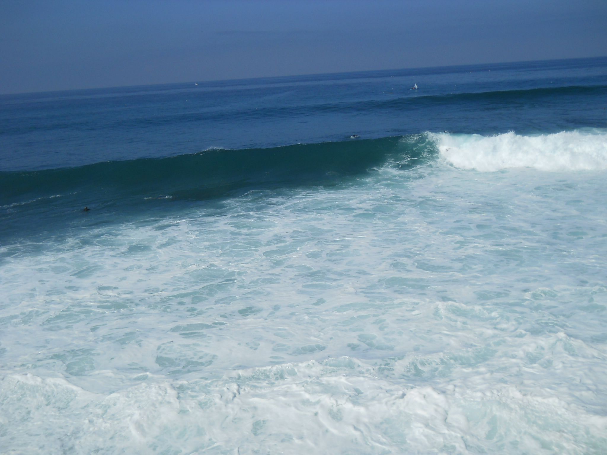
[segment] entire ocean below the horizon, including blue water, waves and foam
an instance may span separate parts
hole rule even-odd
[[[607,453],[606,108],[607,58],[1,95],[0,453]]]

